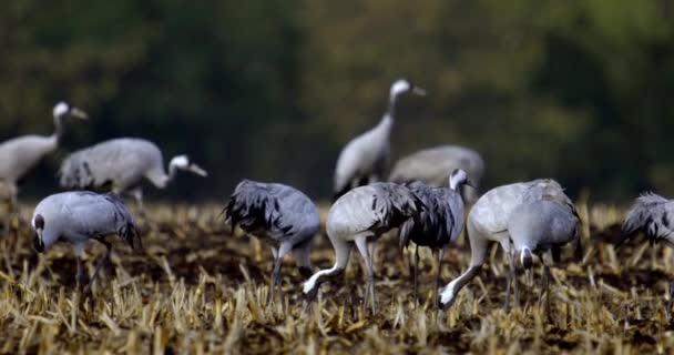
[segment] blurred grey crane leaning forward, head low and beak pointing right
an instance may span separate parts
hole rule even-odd
[[[164,158],[152,142],[120,138],[98,143],[73,152],[61,163],[59,174],[61,186],[68,189],[102,189],[111,185],[112,192],[129,192],[143,210],[143,191],[140,184],[147,179],[157,189],[164,189],[173,181],[178,170],[190,171],[200,176],[208,174],[190,161],[187,155],[177,155],[164,170]]]

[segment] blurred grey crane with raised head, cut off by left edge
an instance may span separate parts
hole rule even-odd
[[[72,116],[88,119],[84,111],[59,102],[52,110],[54,119],[54,133],[51,135],[22,135],[0,143],[0,182],[6,185],[10,197],[10,205],[16,209],[18,183],[40,160],[59,146],[63,135],[63,120]],[[10,214],[4,217],[4,234],[9,233]]]

